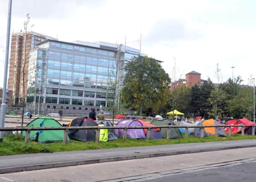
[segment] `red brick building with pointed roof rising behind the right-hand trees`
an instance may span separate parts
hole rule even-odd
[[[181,85],[185,85],[186,87],[193,87],[195,85],[202,85],[204,82],[207,82],[206,80],[201,79],[201,73],[199,72],[189,72],[186,74],[186,79],[179,79],[178,81],[175,81],[170,86],[170,90],[174,90],[175,88],[180,87]]]

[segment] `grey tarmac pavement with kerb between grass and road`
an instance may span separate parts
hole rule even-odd
[[[125,147],[0,156],[0,173],[256,147],[256,140]]]

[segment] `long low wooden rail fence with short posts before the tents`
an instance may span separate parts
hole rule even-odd
[[[185,139],[188,139],[189,128],[201,128],[201,137],[204,137],[204,128],[215,127],[215,136],[218,136],[218,127],[228,127],[228,136],[231,136],[232,127],[241,127],[241,135],[244,136],[244,127],[252,127],[252,136],[255,135],[255,126],[256,125],[207,125],[207,126],[174,126],[174,125],[162,125],[162,126],[112,126],[112,127],[99,127],[99,126],[90,126],[90,127],[4,127],[0,128],[0,131],[26,131],[25,134],[25,143],[29,142],[30,131],[34,130],[64,130],[63,143],[67,144],[68,130],[96,130],[96,143],[99,142],[99,132],[100,129],[118,129],[123,130],[123,140],[127,139],[127,130],[128,129],[147,129],[147,139],[150,139],[150,130],[154,128],[167,128],[166,139],[170,139],[170,130],[171,128],[185,128]]]

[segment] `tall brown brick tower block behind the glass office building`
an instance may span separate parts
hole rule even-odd
[[[23,72],[23,61],[26,55],[26,63],[24,66],[25,81],[27,80],[28,67],[29,67],[29,52],[35,46],[35,44],[44,41],[46,39],[57,40],[46,35],[42,35],[36,32],[17,32],[12,34],[11,52],[10,52],[10,67],[9,67],[9,78],[8,78],[8,89],[13,90],[12,98],[13,104],[18,104],[19,98],[23,96],[23,85],[22,83],[22,72]],[[26,50],[25,50],[26,42]],[[26,90],[25,83],[25,90]],[[26,91],[25,91],[26,92]],[[9,95],[10,96],[10,95]]]

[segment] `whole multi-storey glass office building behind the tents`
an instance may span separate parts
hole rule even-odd
[[[125,62],[138,55],[138,49],[112,43],[44,40],[30,52],[27,109],[37,110],[38,100],[47,113],[108,107],[111,73],[117,71],[121,88]]]

